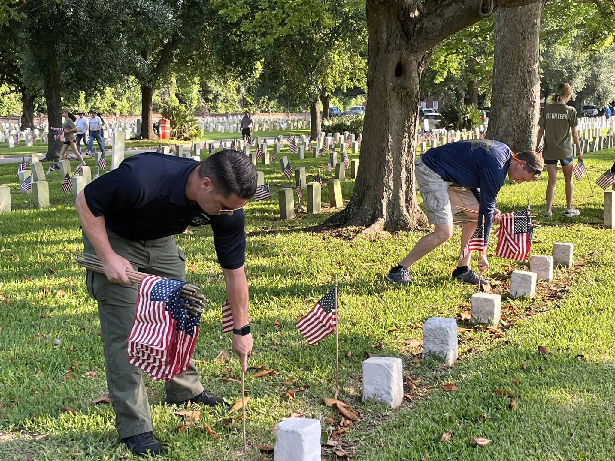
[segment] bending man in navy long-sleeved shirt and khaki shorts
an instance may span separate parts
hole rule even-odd
[[[519,184],[535,181],[543,168],[544,160],[538,152],[514,154],[509,146],[499,141],[458,141],[429,149],[416,159],[415,176],[427,219],[429,224],[434,224],[435,230],[424,235],[408,256],[391,268],[387,280],[401,285],[412,284],[408,273],[410,266],[453,236],[453,215],[463,211],[477,221],[463,226],[459,264],[452,277],[471,285],[477,285],[479,280],[486,283],[470,269],[472,252],[464,249],[478,224],[482,224],[485,248],[478,257],[478,270],[483,274],[489,267],[486,248],[491,223],[498,222],[501,214],[496,208],[496,197],[504,179],[508,175],[511,181]]]

